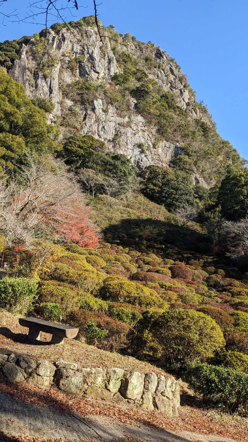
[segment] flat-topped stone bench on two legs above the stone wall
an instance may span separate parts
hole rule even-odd
[[[49,333],[52,335],[51,344],[63,344],[64,338],[73,339],[78,334],[78,328],[43,319],[19,318],[19,324],[29,329],[28,337],[33,340],[40,340],[41,331]]]

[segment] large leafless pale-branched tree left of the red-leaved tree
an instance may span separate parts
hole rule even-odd
[[[0,233],[18,245],[55,235],[64,215],[73,211],[72,197],[83,201],[74,175],[62,163],[38,157],[29,157],[28,163],[19,182],[0,183]]]

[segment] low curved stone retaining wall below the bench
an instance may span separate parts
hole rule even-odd
[[[178,382],[172,376],[125,371],[121,368],[82,368],[60,359],[48,361],[0,354],[0,372],[11,382],[26,381],[30,385],[48,387],[53,383],[73,396],[93,396],[118,400],[145,410],[154,408],[167,416],[177,416],[180,406]]]

